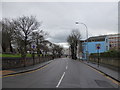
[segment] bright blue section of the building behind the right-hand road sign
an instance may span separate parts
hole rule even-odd
[[[90,37],[82,43],[83,53],[82,59],[86,60],[87,55],[98,53],[97,45],[99,44],[99,53],[108,51],[108,43],[106,35]]]

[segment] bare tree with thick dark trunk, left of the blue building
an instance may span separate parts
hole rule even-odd
[[[67,42],[70,44],[72,59],[77,59],[77,45],[80,39],[81,34],[77,29],[73,29],[67,38]]]

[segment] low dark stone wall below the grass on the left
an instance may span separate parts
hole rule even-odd
[[[26,57],[26,59],[21,57],[2,57],[2,69],[31,66],[51,59],[52,56],[35,57],[34,59],[32,57]]]

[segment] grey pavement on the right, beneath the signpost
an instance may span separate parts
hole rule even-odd
[[[110,69],[109,67],[101,65],[101,64],[98,66],[97,63],[92,63],[92,62],[87,62],[87,61],[82,61],[82,62],[84,62],[85,64],[99,70],[105,75],[110,76],[111,78],[120,82],[120,72],[118,71],[119,70],[118,68]]]

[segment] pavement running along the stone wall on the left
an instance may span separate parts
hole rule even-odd
[[[0,74],[2,74],[2,76],[7,76],[7,75],[14,75],[14,74],[18,74],[18,73],[25,73],[25,72],[29,72],[29,71],[34,71],[34,70],[37,70],[37,69],[49,64],[52,61],[53,60],[50,60],[50,61],[46,61],[46,62],[36,64],[36,65],[33,65],[33,66],[28,66],[28,67],[2,70],[2,71],[0,71]]]

